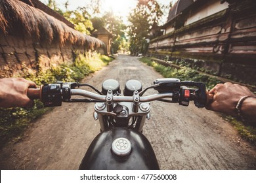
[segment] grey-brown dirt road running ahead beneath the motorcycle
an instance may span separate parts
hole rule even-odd
[[[121,90],[137,79],[144,88],[162,76],[138,58],[120,55],[108,67],[85,78],[101,87],[114,78]],[[147,92],[148,94],[150,92]],[[152,91],[151,93],[154,93]],[[153,102],[144,135],[156,152],[161,169],[255,169],[256,150],[240,139],[215,112]],[[26,137],[1,151],[1,169],[78,169],[90,142],[99,132],[93,104],[64,103],[26,131]]]

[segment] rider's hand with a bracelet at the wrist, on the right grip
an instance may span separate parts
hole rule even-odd
[[[236,112],[236,105],[244,96],[255,96],[248,88],[245,86],[240,86],[239,84],[232,84],[226,82],[224,84],[217,84],[213,89],[209,91],[209,94],[213,95],[213,102],[210,103],[206,108],[209,110],[214,110],[217,112],[223,112],[228,115],[238,115]],[[255,116],[256,99],[248,97],[242,103],[242,114],[248,116]]]

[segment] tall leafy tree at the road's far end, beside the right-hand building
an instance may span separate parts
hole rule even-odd
[[[137,7],[129,14],[129,37],[131,54],[145,54],[148,39],[154,25],[158,24],[163,12],[156,0],[139,0]]]

